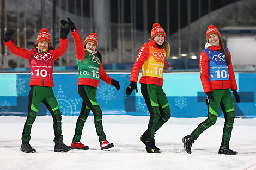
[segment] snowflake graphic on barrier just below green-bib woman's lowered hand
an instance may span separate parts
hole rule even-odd
[[[109,87],[108,84],[104,84],[97,90],[96,98],[104,100],[105,103],[107,104],[109,100],[115,98],[114,90],[115,90],[114,86]]]

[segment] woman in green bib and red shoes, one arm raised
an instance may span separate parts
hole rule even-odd
[[[119,81],[115,81],[109,77],[102,67],[102,56],[97,51],[97,34],[90,33],[86,37],[84,43],[75,27],[75,24],[68,18],[68,21],[62,20],[62,24],[70,24],[71,34],[74,38],[76,59],[78,65],[78,93],[83,99],[80,115],[76,122],[75,135],[71,147],[73,149],[89,149],[88,146],[80,142],[84,123],[89,116],[90,110],[94,115],[94,124],[97,135],[99,136],[100,148],[108,149],[114,147],[113,143],[106,140],[106,134],[103,131],[102,125],[102,111],[96,100],[97,87],[100,84],[100,79],[106,83],[115,86],[117,90],[120,89]]]

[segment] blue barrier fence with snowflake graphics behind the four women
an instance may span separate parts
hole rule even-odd
[[[97,90],[97,102],[103,115],[148,116],[149,112],[140,92],[125,94],[130,84],[130,74],[108,73],[120,83],[120,90],[101,81]],[[141,76],[141,75],[140,75]],[[77,73],[56,73],[53,91],[63,115],[77,116],[82,100],[77,91]],[[255,73],[235,73],[241,102],[235,105],[236,117],[256,117]],[[27,116],[30,74],[0,74],[0,115]],[[138,83],[138,90],[140,84]],[[166,92],[172,117],[205,117],[206,95],[200,82],[200,73],[164,73],[163,89]],[[139,90],[140,91],[140,90]],[[233,96],[233,94],[232,94]],[[233,96],[234,99],[234,96]],[[235,101],[235,100],[234,100]],[[44,104],[40,105],[38,115],[50,115]],[[223,117],[220,110],[219,116]]]

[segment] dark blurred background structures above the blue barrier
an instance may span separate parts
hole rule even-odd
[[[108,70],[131,70],[157,22],[170,43],[169,68],[199,71],[205,32],[214,24],[230,49],[234,68],[252,71],[256,70],[255,9],[255,0],[1,0],[0,69],[29,71],[29,62],[13,55],[2,42],[8,27],[14,29],[11,40],[18,47],[31,49],[41,28],[47,28],[57,48],[60,20],[70,17],[82,41],[90,32],[98,34],[103,67]],[[68,50],[54,62],[60,70],[76,69],[71,34],[68,39]]]

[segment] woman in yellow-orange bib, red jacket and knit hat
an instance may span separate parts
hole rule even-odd
[[[160,24],[153,24],[151,39],[139,49],[132,67],[131,83],[126,89],[127,95],[130,95],[134,89],[138,92],[137,81],[142,67],[139,83],[141,83],[141,93],[147,104],[150,119],[148,129],[141,136],[141,141],[145,144],[148,153],[161,153],[161,150],[155,146],[155,133],[170,118],[169,103],[162,89],[164,61],[170,54],[170,45],[165,38],[166,33]]]

